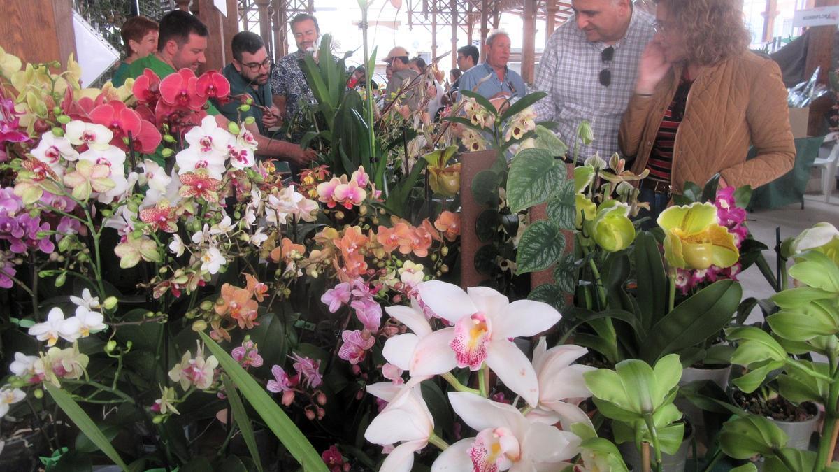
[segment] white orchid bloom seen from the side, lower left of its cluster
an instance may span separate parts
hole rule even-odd
[[[382,446],[401,442],[384,459],[380,472],[409,472],[414,465],[414,453],[425,448],[434,433],[434,418],[425,405],[419,382],[398,387],[392,382],[367,386],[369,393],[389,403],[370,422],[364,438]]]

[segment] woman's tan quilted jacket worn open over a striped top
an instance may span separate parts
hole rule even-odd
[[[633,172],[647,166],[681,74],[682,66],[673,67],[652,97],[633,96],[623,114],[618,142],[623,155],[635,158]],[[703,186],[717,172],[729,186],[755,188],[792,169],[795,143],[786,96],[778,65],[751,52],[701,71],[676,134],[673,191],[680,193],[687,181]],[[746,161],[749,144],[758,155]]]

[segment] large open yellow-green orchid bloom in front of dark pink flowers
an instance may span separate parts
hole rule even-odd
[[[664,258],[671,268],[726,268],[740,258],[734,235],[717,223],[717,207],[711,203],[667,208],[657,223],[664,229]]]

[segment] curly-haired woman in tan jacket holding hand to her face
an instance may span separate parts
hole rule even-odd
[[[753,187],[792,169],[795,144],[779,67],[748,50],[736,0],[659,0],[619,144],[649,170],[641,199],[655,220],[685,182]],[[746,160],[748,146],[758,151]],[[654,222],[653,222],[654,223]]]

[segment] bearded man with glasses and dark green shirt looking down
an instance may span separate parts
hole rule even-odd
[[[258,34],[242,31],[233,36],[231,45],[233,60],[221,73],[230,82],[231,95],[248,94],[253,104],[247,112],[240,112],[241,102],[236,100],[225,105],[213,101],[227,119],[243,121],[252,116],[256,120],[259,134],[268,135],[268,129],[279,123],[279,108],[274,106],[268,75],[271,73],[271,59]]]

